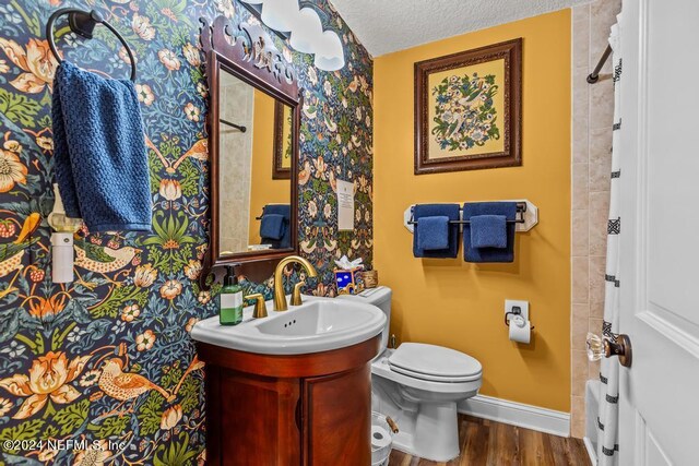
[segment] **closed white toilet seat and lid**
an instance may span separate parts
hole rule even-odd
[[[430,382],[470,382],[483,373],[481,362],[471,356],[425,343],[402,344],[388,362],[395,372]]]

